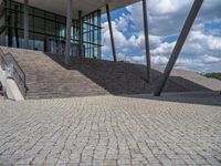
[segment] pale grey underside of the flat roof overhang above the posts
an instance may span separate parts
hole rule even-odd
[[[24,0],[15,0],[23,3]],[[80,10],[83,11],[83,15],[102,9],[105,12],[104,7],[109,4],[110,10],[123,8],[140,0],[73,0],[73,18],[77,18]],[[61,15],[66,15],[66,0],[29,0],[29,4],[45,11],[54,12]]]

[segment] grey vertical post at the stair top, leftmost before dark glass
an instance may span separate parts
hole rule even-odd
[[[29,49],[29,0],[24,0],[24,48]]]

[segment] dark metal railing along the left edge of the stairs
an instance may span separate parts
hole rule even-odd
[[[12,68],[12,79],[15,81],[19,90],[22,95],[27,96],[27,76],[17,60],[13,58],[11,53],[3,53],[2,49],[0,49],[0,64],[3,70],[11,66]]]

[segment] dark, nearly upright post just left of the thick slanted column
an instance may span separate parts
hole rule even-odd
[[[145,31],[145,49],[146,49],[146,63],[147,63],[147,82],[151,83],[151,62],[149,51],[149,31],[148,31],[148,17],[147,17],[147,2],[143,0],[143,14],[144,14],[144,31]]]

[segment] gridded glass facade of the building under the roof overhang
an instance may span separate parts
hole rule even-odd
[[[1,44],[24,48],[23,3],[3,0],[0,6]],[[101,59],[101,11],[83,17],[83,54]],[[72,55],[78,55],[80,20],[72,21]],[[29,49],[64,54],[66,18],[29,7]]]

